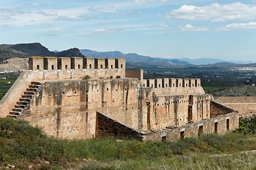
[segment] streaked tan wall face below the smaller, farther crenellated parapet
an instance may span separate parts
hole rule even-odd
[[[210,98],[210,95],[157,96],[151,93],[143,99],[144,129],[180,127],[210,118]],[[146,124],[150,124],[150,128],[145,128]]]

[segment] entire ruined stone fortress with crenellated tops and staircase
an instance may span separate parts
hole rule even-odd
[[[48,135],[111,135],[142,141],[224,134],[238,112],[213,101],[200,79],[143,79],[124,59],[30,57],[0,102],[0,117],[28,120]]]

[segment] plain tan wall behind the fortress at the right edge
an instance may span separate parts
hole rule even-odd
[[[238,111],[239,115],[256,114],[255,96],[221,96],[216,97],[215,101]]]

